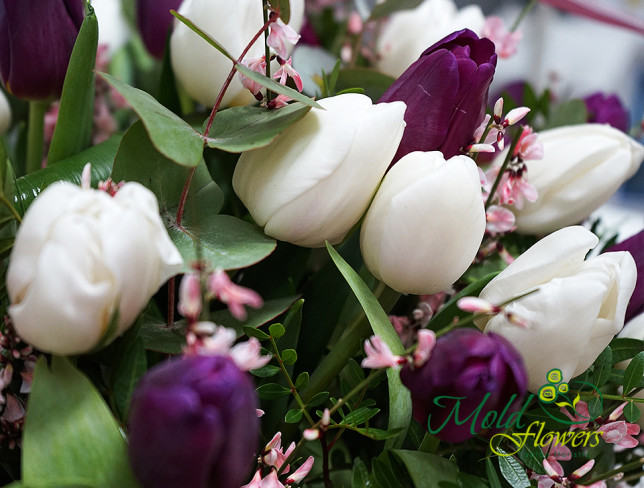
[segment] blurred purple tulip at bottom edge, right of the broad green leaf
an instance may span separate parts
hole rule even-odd
[[[129,455],[145,487],[239,488],[259,435],[257,395],[225,356],[168,361],[132,397]]]

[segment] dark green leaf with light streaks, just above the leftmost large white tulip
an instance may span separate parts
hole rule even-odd
[[[18,178],[16,193],[11,195],[16,210],[24,215],[38,194],[55,181],[69,181],[80,185],[81,173],[87,163],[92,164],[92,186],[96,187],[100,180],[109,178],[120,140],[120,136],[111,137],[53,166]]]

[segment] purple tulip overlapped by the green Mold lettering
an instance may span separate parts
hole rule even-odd
[[[405,366],[400,378],[411,391],[414,418],[447,442],[516,425],[520,415],[512,414],[528,384],[516,349],[499,335],[475,329],[440,337],[429,360],[418,369]]]

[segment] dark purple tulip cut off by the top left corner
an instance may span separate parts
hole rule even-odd
[[[0,76],[9,93],[58,98],[84,16],[83,0],[1,0]]]

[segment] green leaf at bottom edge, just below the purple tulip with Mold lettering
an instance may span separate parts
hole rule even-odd
[[[457,483],[458,467],[442,456],[401,449],[391,452],[403,462],[416,488],[436,488],[442,483]]]

